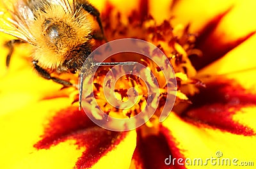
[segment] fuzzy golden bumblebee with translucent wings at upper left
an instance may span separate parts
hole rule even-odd
[[[79,73],[92,52],[92,40],[106,40],[99,10],[86,0],[18,0],[4,4],[7,11],[2,13],[10,13],[10,17],[0,18],[0,31],[17,38],[6,43],[10,49],[6,66],[13,47],[29,43],[34,47],[31,57],[38,74],[65,87],[72,83],[51,73]]]

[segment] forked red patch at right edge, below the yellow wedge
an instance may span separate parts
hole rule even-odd
[[[236,135],[255,135],[252,128],[239,124],[232,117],[243,107],[255,107],[256,95],[234,84],[227,80],[207,84],[200,94],[191,98],[193,104],[182,118],[199,126],[206,124]]]

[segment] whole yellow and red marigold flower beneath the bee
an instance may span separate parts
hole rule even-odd
[[[256,151],[255,2],[92,3],[101,11],[109,41],[138,38],[166,54],[177,80],[172,113],[163,123],[158,121],[166,82],[156,64],[147,59],[132,58],[157,76],[161,97],[156,114],[140,128],[116,132],[96,126],[79,110],[77,89],[61,89],[61,85],[38,77],[30,66],[29,45],[15,48],[8,70],[4,65],[8,50],[2,47],[1,168],[237,167],[232,161],[230,166],[212,161],[205,165],[209,158],[217,162],[237,159],[237,165],[252,168],[251,154]],[[1,34],[2,44],[10,39]],[[95,46],[102,43],[95,41]],[[134,87],[140,98],[131,110],[113,109],[102,97],[106,71],[108,67],[100,68],[93,81],[99,106],[107,115],[123,118],[140,112],[148,99],[145,84],[132,75],[122,77],[116,97],[126,101],[127,89]],[[77,81],[77,77],[71,78]]]

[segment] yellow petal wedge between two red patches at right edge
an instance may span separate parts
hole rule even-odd
[[[228,52],[218,61],[212,62],[209,66],[198,72],[198,78],[207,81],[207,75],[212,78],[225,77],[234,79],[248,92],[255,93],[255,44],[256,36],[252,36],[241,45]]]

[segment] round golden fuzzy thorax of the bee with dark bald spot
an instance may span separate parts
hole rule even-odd
[[[33,59],[40,61],[44,68],[60,66],[70,52],[86,43],[92,33],[92,25],[82,8],[65,9],[60,4],[43,4],[42,10],[35,11],[35,22],[29,29],[35,38]],[[56,31],[56,34],[51,34]]]

